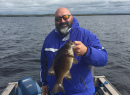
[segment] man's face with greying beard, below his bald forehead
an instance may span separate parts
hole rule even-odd
[[[68,14],[65,14],[68,15]],[[64,15],[61,16],[57,16],[57,17],[63,17]],[[70,15],[70,17],[65,20],[63,18],[61,18],[61,21],[56,21],[55,20],[55,26],[56,26],[56,30],[61,34],[61,35],[66,35],[68,32],[68,29],[72,27],[72,23],[73,23],[73,16]]]

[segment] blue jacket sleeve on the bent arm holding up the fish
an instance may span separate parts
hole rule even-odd
[[[86,34],[85,34],[86,35]],[[100,45],[99,39],[93,33],[89,32],[85,39],[87,41],[87,52],[82,59],[85,63],[93,66],[105,66],[107,63],[107,51]]]

